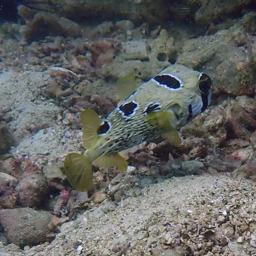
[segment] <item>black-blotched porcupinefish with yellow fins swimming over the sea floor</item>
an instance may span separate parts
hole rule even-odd
[[[127,163],[118,152],[159,135],[179,146],[178,130],[207,108],[212,90],[207,74],[174,64],[141,84],[104,121],[94,110],[82,111],[82,142],[87,150],[67,155],[67,180],[77,190],[90,190],[92,164],[124,171]]]

